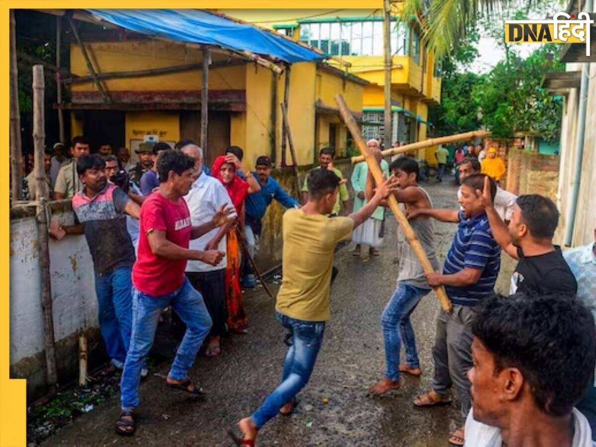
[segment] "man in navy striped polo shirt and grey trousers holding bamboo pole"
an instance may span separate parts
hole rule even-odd
[[[483,209],[484,174],[473,174],[462,181],[459,202],[462,210],[423,210],[424,215],[443,222],[458,222],[451,248],[447,253],[443,273],[427,274],[429,285],[443,285],[453,303],[453,312],[440,311],[434,339],[434,379],[432,390],[418,396],[414,405],[430,406],[451,402],[449,389],[455,385],[461,402],[461,423],[470,411],[470,381],[467,372],[472,367],[471,356],[474,306],[494,293],[499,273],[501,249],[491,232]],[[491,196],[496,194],[495,181],[490,179]],[[464,445],[463,428],[449,438],[453,445]]]

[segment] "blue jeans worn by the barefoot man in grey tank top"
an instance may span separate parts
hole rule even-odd
[[[406,350],[406,364],[411,368],[420,368],[420,360],[416,350],[414,329],[409,316],[423,296],[430,292],[427,288],[399,283],[398,288],[387,303],[381,316],[383,339],[385,342],[385,377],[399,380],[399,351],[401,343]]]

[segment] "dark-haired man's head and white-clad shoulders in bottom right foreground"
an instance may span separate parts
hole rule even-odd
[[[593,447],[573,408],[594,372],[596,328],[571,294],[493,296],[472,325],[468,447]]]

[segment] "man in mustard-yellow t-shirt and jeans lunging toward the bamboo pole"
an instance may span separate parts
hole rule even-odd
[[[252,416],[238,423],[243,444],[254,445],[258,430],[279,413],[291,414],[296,394],[311,377],[329,319],[329,288],[336,244],[374,213],[383,198],[397,190],[395,178],[381,184],[373,198],[347,217],[328,218],[337,201],[340,179],[327,169],[308,176],[308,203],[283,217],[283,279],[275,316],[290,334],[283,381]],[[233,432],[229,435],[238,444]],[[252,440],[253,442],[247,442]],[[239,445],[239,444],[238,444]]]

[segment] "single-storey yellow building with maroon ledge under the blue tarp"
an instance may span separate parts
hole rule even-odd
[[[281,38],[281,36],[280,36]],[[102,81],[111,103],[103,100],[94,81],[75,82],[71,102],[72,134],[84,134],[92,148],[107,140],[116,147],[134,148],[155,135],[173,145],[181,138],[200,142],[202,51],[182,42],[153,39],[89,41],[85,46],[100,73],[136,72],[192,66],[170,73],[108,77]],[[70,47],[70,72],[89,76],[80,47]],[[274,71],[214,50],[209,69],[209,127],[206,163],[228,145],[243,148],[248,166],[267,155],[281,166],[291,165],[290,151],[281,153],[285,71]],[[86,79],[87,79],[86,78]],[[299,165],[311,164],[318,149],[331,145],[345,150],[347,129],[333,96],[341,93],[361,119],[368,82],[324,63],[290,66],[288,117]]]

